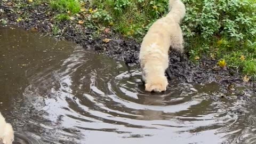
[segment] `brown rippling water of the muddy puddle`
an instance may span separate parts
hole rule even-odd
[[[0,28],[0,47],[14,143],[256,143],[255,104],[216,83],[145,93],[138,66],[19,28]]]

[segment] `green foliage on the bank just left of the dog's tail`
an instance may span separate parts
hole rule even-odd
[[[113,23],[113,29],[125,36],[141,39],[148,27],[168,11],[168,0],[100,0],[89,1],[98,11],[96,22]],[[96,19],[95,19],[96,18]]]

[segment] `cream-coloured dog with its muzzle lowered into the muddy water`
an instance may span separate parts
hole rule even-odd
[[[180,0],[170,0],[171,11],[149,28],[140,48],[140,66],[146,91],[166,91],[168,85],[165,70],[169,65],[168,51],[183,53],[183,37],[180,21],[185,17],[185,5]]]

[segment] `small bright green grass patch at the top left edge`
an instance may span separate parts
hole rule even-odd
[[[77,0],[50,0],[50,5],[59,12],[78,13],[81,9],[81,4]]]

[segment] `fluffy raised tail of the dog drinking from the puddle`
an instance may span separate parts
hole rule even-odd
[[[169,0],[170,12],[166,17],[172,17],[175,22],[180,23],[180,21],[185,17],[186,7],[180,0]]]

